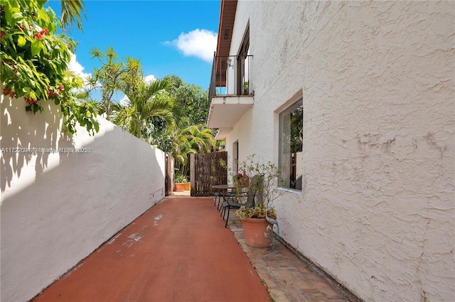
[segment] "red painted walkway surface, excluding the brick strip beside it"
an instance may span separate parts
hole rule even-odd
[[[33,301],[269,301],[212,198],[166,198]]]

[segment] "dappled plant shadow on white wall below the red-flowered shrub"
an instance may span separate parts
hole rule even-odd
[[[33,155],[31,149],[46,148],[55,150],[57,147],[74,147],[73,139],[62,132],[63,114],[58,106],[46,104],[45,113],[26,112],[26,102],[23,98],[11,99],[1,96],[1,130],[0,145],[2,149],[0,160],[1,193],[11,187],[11,181],[21,176],[25,165],[35,163],[36,176],[48,167],[49,152],[37,152]],[[60,157],[60,161],[63,157]]]

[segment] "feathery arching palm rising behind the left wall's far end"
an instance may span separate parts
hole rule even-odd
[[[124,83],[126,84],[126,83]],[[144,133],[153,118],[161,118],[167,125],[174,125],[176,106],[169,97],[157,97],[170,87],[166,80],[146,83],[137,79],[133,86],[122,89],[127,96],[126,104],[114,105],[114,123],[125,128],[137,138]]]

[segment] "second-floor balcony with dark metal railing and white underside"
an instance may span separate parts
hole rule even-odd
[[[254,104],[251,69],[252,55],[213,58],[207,124],[209,128],[219,129],[217,139],[224,139]]]

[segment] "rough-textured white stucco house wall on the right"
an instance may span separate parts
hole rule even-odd
[[[300,89],[304,189],[280,235],[365,301],[455,301],[453,1],[239,1],[255,105],[227,138],[278,158]]]

